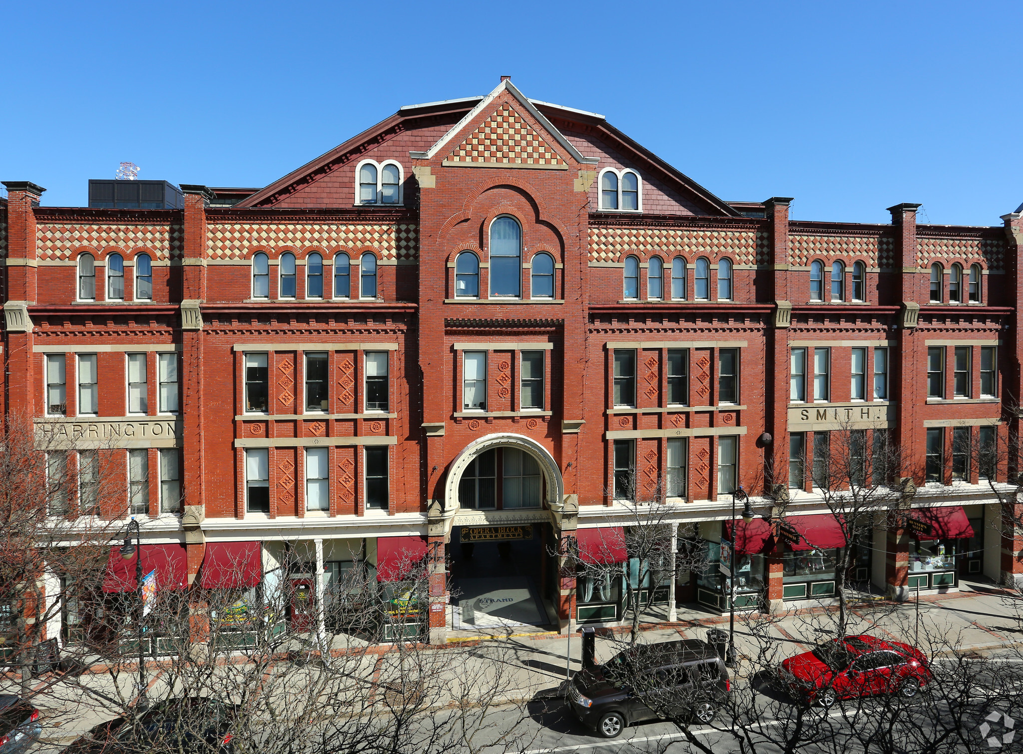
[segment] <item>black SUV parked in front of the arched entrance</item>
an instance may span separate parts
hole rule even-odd
[[[640,720],[685,716],[710,722],[730,690],[714,649],[682,639],[633,647],[576,673],[568,699],[583,724],[613,739]]]

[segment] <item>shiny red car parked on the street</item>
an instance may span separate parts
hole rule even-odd
[[[874,694],[911,699],[932,677],[920,650],[864,635],[835,638],[790,657],[779,674],[797,699],[825,707]]]

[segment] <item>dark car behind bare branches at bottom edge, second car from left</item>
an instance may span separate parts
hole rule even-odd
[[[160,748],[187,754],[232,754],[237,705],[210,697],[167,699],[137,715],[100,723],[65,754],[151,754]]]

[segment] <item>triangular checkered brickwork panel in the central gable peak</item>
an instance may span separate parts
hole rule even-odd
[[[564,166],[565,161],[507,102],[448,156],[448,163]]]

